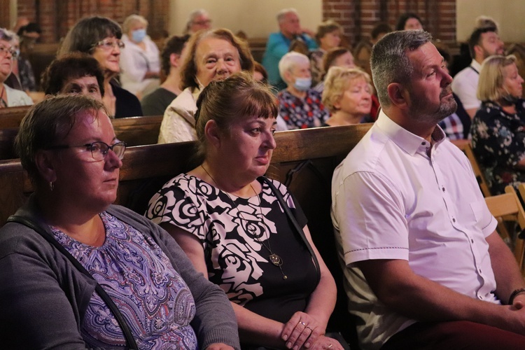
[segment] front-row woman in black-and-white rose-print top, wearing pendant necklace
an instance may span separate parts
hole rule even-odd
[[[306,218],[285,186],[262,177],[276,146],[274,95],[251,74],[237,73],[205,87],[197,107],[204,161],[166,183],[146,216],[228,295],[241,343],[342,349],[323,336],[335,283],[311,242]],[[274,191],[303,228],[304,240]]]

